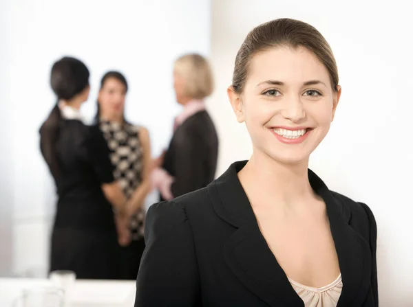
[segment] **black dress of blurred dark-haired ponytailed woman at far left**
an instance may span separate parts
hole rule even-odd
[[[43,139],[41,150],[43,153]],[[114,181],[109,148],[98,127],[62,120],[56,142],[59,201],[52,231],[50,271],[77,278],[113,279],[118,271],[112,205],[101,185]]]

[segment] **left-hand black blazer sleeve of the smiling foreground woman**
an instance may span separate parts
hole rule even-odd
[[[152,205],[145,222],[145,244],[135,307],[199,306],[198,264],[184,207],[173,201]]]

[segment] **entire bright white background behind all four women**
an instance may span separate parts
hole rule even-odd
[[[280,17],[314,25],[330,43],[343,87],[335,122],[310,167],[330,187],[367,203],[377,219],[381,306],[413,306],[413,20],[394,0],[1,0],[0,276],[45,277],[56,201],[39,127],[54,104],[52,63],[74,56],[91,71],[82,113],[92,120],[100,77],[122,71],[126,115],[146,126],[160,154],[180,111],[173,61],[211,60],[207,100],[220,137],[218,177],[248,159],[251,143],[226,98],[235,54],[255,25]],[[156,201],[149,195],[147,205]],[[407,303],[409,302],[409,303]]]

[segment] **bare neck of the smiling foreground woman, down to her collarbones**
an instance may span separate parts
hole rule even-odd
[[[251,196],[257,196],[262,205],[277,203],[290,207],[313,195],[308,181],[308,159],[286,164],[262,152],[254,152],[239,177],[247,194],[251,192]]]

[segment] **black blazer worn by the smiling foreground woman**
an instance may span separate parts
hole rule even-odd
[[[304,307],[237,178],[245,163],[233,163],[207,188],[149,208],[136,307]],[[326,202],[339,258],[343,289],[337,306],[379,306],[372,212],[308,173],[313,190]]]

